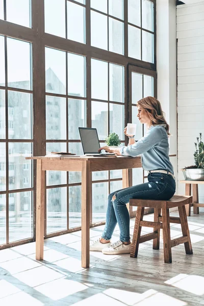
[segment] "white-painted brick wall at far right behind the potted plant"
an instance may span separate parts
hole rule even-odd
[[[204,1],[192,2],[176,9],[179,181],[180,169],[194,165],[199,133],[204,140]],[[199,202],[204,203],[203,185],[198,186]],[[184,184],[179,183],[178,192],[184,194]]]

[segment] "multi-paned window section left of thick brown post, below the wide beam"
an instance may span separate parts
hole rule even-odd
[[[32,44],[0,36],[0,244],[32,238]]]

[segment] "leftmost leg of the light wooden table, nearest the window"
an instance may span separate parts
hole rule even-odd
[[[43,260],[45,171],[42,170],[42,160],[37,160],[36,192],[36,260]]]

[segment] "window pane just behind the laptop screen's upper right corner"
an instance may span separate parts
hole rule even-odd
[[[96,127],[99,140],[108,136],[108,103],[92,101],[91,126]]]

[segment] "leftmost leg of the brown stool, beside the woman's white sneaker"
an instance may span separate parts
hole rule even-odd
[[[138,207],[136,218],[135,218],[135,227],[133,232],[133,241],[131,247],[131,257],[136,258],[138,254],[138,247],[140,243],[140,234],[141,234],[141,227],[140,221],[143,219],[144,215],[144,207]]]

